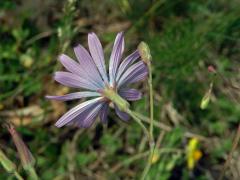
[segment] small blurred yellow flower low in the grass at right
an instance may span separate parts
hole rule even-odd
[[[199,140],[197,138],[192,138],[188,142],[186,148],[187,154],[187,166],[189,170],[194,169],[196,163],[202,157],[202,152],[198,149]]]

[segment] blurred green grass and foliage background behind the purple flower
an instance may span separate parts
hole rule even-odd
[[[112,113],[107,126],[89,130],[57,129],[57,118],[74,103],[46,101],[46,94],[65,94],[53,83],[61,66],[57,57],[73,56],[72,47],[87,45],[94,31],[109,55],[112,41],[125,31],[125,54],[146,41],[153,56],[155,127],[158,159],[149,179],[216,179],[240,123],[239,0],[1,0],[0,123],[17,126],[37,160],[41,179],[138,179],[146,162],[146,137],[135,123]],[[105,56],[107,57],[107,56]],[[107,60],[108,58],[106,58]],[[213,77],[211,101],[200,108]],[[148,115],[148,89],[132,108]],[[34,108],[33,108],[34,107]],[[160,127],[160,128],[159,128]],[[187,168],[185,148],[197,137],[202,158]],[[6,129],[0,148],[24,176]],[[239,179],[239,152],[226,179]],[[13,179],[0,167],[0,179]]]

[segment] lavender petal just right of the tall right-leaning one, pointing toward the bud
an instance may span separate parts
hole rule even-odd
[[[129,56],[127,56],[122,63],[120,64],[118,71],[117,71],[117,77],[116,81],[119,80],[119,78],[122,76],[123,72],[128,69],[128,67],[134,63],[138,58],[140,57],[139,52],[136,50]]]

